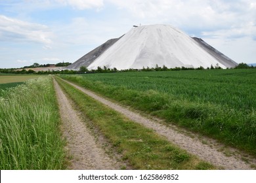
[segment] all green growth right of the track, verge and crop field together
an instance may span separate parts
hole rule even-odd
[[[255,69],[62,78],[256,156]]]

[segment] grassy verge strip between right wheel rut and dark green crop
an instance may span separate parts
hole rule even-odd
[[[176,98],[175,95],[156,90],[139,91],[127,89],[124,86],[104,84],[82,76],[62,77],[124,105],[148,112],[165,119],[166,122],[178,124],[196,133],[218,139],[224,144],[240,148],[256,156],[256,113],[253,108],[238,110],[227,105]],[[168,79],[171,80],[171,78]],[[113,80],[116,79],[113,78]],[[207,83],[211,87],[211,81]],[[136,81],[135,85],[138,85]],[[179,86],[181,84],[177,87]],[[236,95],[230,97],[236,97]]]

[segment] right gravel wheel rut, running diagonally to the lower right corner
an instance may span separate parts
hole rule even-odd
[[[181,133],[174,125],[167,126],[161,124],[160,120],[149,120],[148,118],[145,118],[126,107],[121,107],[120,105],[108,101],[107,99],[104,99],[103,97],[100,97],[89,90],[85,90],[85,88],[81,88],[75,84],[72,84],[71,82],[68,83],[93,97],[97,101],[100,101],[104,105],[116,110],[117,112],[120,112],[121,114],[124,114],[130,120],[142,124],[150,129],[154,129],[156,133],[163,135],[170,142],[177,144],[184,150],[212,163],[213,165],[216,165],[217,167],[222,167],[223,169],[252,169],[251,164],[256,165],[256,159],[249,158],[249,156],[245,156],[246,158],[244,158],[238,153],[238,150],[233,148],[223,148],[223,145],[205,137],[203,137],[203,139],[197,138],[196,135],[192,135],[193,137],[191,137],[191,135],[186,135],[188,133]],[[246,159],[247,162],[249,161],[249,163],[243,161],[242,158]]]

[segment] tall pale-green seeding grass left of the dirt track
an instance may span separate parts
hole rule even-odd
[[[0,100],[0,169],[64,169],[64,142],[50,77],[28,80]]]

